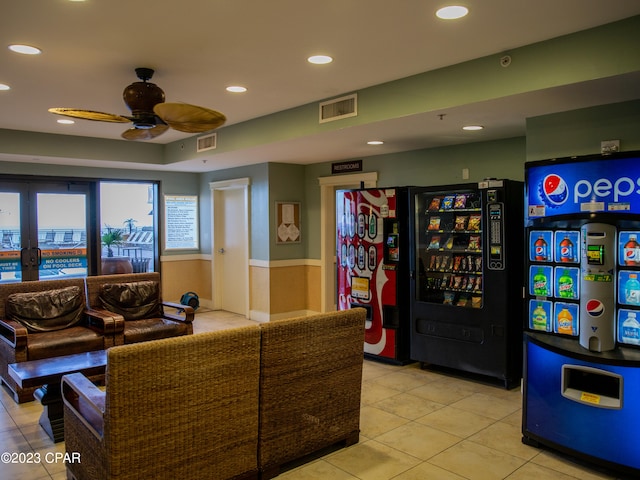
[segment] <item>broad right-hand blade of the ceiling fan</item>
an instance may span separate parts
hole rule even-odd
[[[220,112],[188,103],[159,103],[153,111],[174,130],[186,133],[213,130],[227,121]]]

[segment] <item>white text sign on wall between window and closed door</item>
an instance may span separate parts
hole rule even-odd
[[[165,250],[199,248],[198,196],[164,196]]]

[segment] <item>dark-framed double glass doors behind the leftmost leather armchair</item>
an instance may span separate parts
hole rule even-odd
[[[0,282],[95,271],[92,182],[0,181]]]

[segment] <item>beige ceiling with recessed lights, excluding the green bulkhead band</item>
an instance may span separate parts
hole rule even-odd
[[[470,14],[443,22],[434,15],[445,4],[441,0],[3,2],[0,83],[12,89],[0,92],[0,128],[120,139],[127,125],[77,120],[61,126],[56,123],[60,117],[47,109],[127,115],[122,90],[137,80],[134,68],[139,66],[156,70],[152,81],[167,101],[222,111],[232,125],[640,14],[638,0],[456,3],[467,5]],[[17,55],[5,48],[11,43],[35,45],[43,53]],[[335,61],[325,66],[306,62],[318,53]],[[231,84],[248,91],[230,94],[225,87]],[[638,77],[630,75],[446,113],[469,118],[473,113],[491,123],[490,133],[476,139],[507,138],[524,135],[529,116],[637,98],[637,84]],[[363,138],[383,134],[387,143],[379,153],[470,141],[457,125],[438,122],[433,114],[415,115],[224,154],[216,157],[215,166],[193,160],[167,169],[227,168],[247,158],[251,163],[356,158],[372,154]],[[187,136],[169,131],[153,142]],[[0,153],[3,158],[17,159]],[[76,159],[57,162],[78,164]],[[122,162],[117,166],[122,168]]]

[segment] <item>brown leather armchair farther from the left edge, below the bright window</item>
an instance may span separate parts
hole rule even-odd
[[[124,317],[124,329],[116,336],[117,345],[193,333],[193,308],[162,300],[158,272],[99,275],[87,277],[86,283],[92,309],[107,310]],[[137,288],[149,285],[155,285],[153,295]],[[111,298],[105,295],[108,289],[112,293]],[[149,303],[151,301],[153,305]]]

